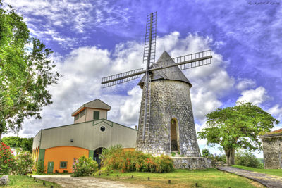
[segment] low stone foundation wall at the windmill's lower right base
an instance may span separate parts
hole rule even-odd
[[[212,160],[204,157],[171,157],[176,169],[212,168]]]

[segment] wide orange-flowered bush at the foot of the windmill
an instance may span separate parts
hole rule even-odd
[[[101,155],[102,169],[121,170],[122,173],[130,171],[168,173],[173,171],[173,161],[168,156],[154,157],[141,151],[123,151],[121,146],[112,146],[104,149]]]

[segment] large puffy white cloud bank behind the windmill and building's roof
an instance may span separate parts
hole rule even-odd
[[[172,56],[190,54],[209,49],[213,42],[209,37],[189,34],[180,39],[178,32],[159,38],[158,44],[170,46],[166,49]],[[160,47],[161,48],[161,47]],[[73,123],[71,113],[76,108],[99,98],[112,108],[108,118],[122,125],[137,125],[142,90],[135,82],[127,82],[101,89],[102,77],[142,68],[143,44],[131,41],[117,44],[114,51],[85,46],[71,51],[66,58],[54,56],[57,70],[63,77],[50,87],[54,101],[44,107],[42,120],[25,121],[20,135],[34,136],[40,129]],[[158,51],[160,56],[161,51]],[[221,55],[214,53],[211,65],[185,71],[192,82],[191,99],[195,118],[204,123],[204,115],[221,106],[220,97],[233,88],[234,80],[228,75]],[[202,126],[202,125],[200,125]],[[201,142],[202,143],[202,142]]]

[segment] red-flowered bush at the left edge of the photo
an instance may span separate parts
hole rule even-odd
[[[0,175],[9,174],[13,169],[14,156],[10,147],[6,146],[3,142],[0,144]]]

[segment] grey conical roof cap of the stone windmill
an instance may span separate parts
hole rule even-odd
[[[175,64],[171,56],[164,51],[163,54],[161,54],[161,57],[158,59],[156,63],[153,63],[150,68],[158,68],[164,65],[173,65]],[[190,87],[192,87],[192,84],[188,80],[187,77],[182,73],[182,71],[178,68],[178,66],[174,66],[171,68],[166,68],[166,70],[156,70],[152,73],[152,81],[155,80],[178,80],[181,82],[186,82],[189,84]],[[142,77],[138,85],[141,87],[143,86],[145,82],[145,75]]]

